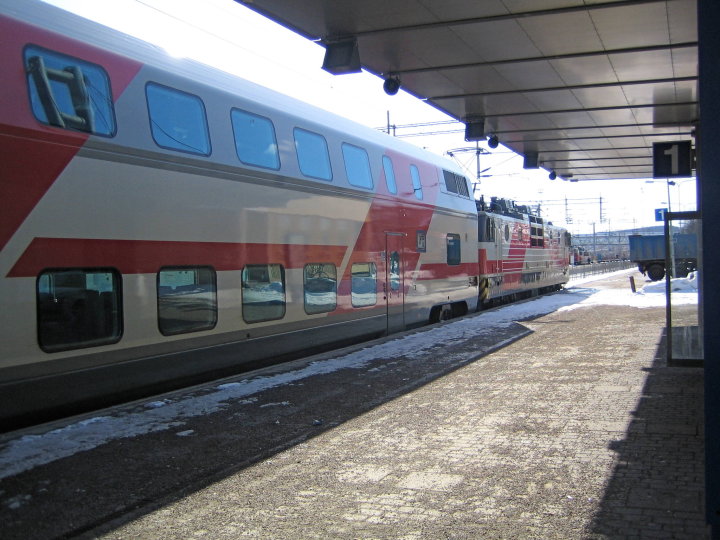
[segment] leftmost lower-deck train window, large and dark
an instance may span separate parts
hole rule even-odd
[[[46,352],[116,343],[122,334],[120,274],[47,270],[37,279],[37,328]]]

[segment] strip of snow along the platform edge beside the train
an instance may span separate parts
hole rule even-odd
[[[628,274],[623,270],[614,274]],[[471,339],[481,331],[507,327],[516,321],[527,320],[554,311],[567,311],[597,305],[623,305],[637,308],[664,307],[665,282],[649,283],[633,293],[630,284],[622,289],[594,289],[588,282],[605,279],[614,274],[592,276],[585,280],[571,281],[569,288],[561,293],[512,304],[480,313],[458,321],[444,323],[419,332],[412,332],[397,339],[370,345],[363,349],[311,362],[297,369],[272,375],[249,376],[236,382],[227,382],[208,391],[175,393],[162,400],[108,409],[102,415],[83,419],[60,428],[23,435],[19,438],[0,438],[0,479],[18,474],[38,465],[90,450],[114,439],[178,429],[177,436],[192,435],[192,430],[181,430],[190,418],[219,411],[230,402],[252,403],[254,394],[299,381],[322,373],[340,369],[360,369],[375,361],[391,357],[423,354],[438,343],[456,343]],[[695,275],[672,280],[673,304],[697,303]],[[284,405],[273,404],[273,405]],[[34,429],[33,431],[38,431]],[[7,437],[7,436],[6,436]]]

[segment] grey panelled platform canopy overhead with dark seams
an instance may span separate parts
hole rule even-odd
[[[237,1],[566,180],[651,177],[698,121],[695,0]]]

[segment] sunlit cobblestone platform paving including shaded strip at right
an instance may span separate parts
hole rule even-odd
[[[520,341],[106,538],[703,538],[702,370],[656,359],[663,317],[526,322]]]

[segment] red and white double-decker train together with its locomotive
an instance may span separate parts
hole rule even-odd
[[[0,36],[4,429],[560,277],[450,161],[36,0]]]

